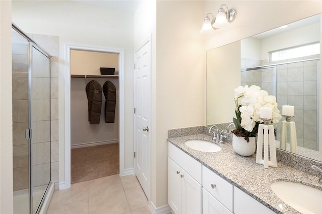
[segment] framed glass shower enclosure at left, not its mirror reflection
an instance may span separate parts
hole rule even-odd
[[[14,213],[39,213],[50,176],[50,56],[12,28]]]

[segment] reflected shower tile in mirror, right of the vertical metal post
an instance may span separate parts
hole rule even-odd
[[[316,58],[313,56],[312,58]],[[289,61],[303,60],[304,58]],[[317,60],[277,66],[277,101],[293,105],[297,145],[316,150]],[[282,118],[284,120],[285,118]],[[279,124],[278,127],[281,125]],[[280,130],[277,130],[279,139]]]

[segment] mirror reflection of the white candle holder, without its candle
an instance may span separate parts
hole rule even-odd
[[[286,150],[287,139],[289,139],[291,152],[297,154],[296,127],[295,122],[291,121],[291,118],[294,116],[283,116],[285,117],[285,121],[282,121],[280,148]]]

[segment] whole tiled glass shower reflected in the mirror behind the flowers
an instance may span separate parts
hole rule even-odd
[[[247,59],[242,59],[246,61]],[[260,63],[260,62],[259,62]],[[244,64],[248,64],[247,62]],[[318,118],[319,55],[289,59],[273,65],[259,65],[241,70],[242,85],[258,85],[282,105],[295,108],[297,145],[319,151]],[[280,120],[285,120],[284,117]],[[278,124],[281,127],[281,124]],[[280,138],[277,129],[277,139]]]

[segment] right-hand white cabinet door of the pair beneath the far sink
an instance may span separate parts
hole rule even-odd
[[[182,176],[182,213],[201,214],[201,189],[202,186],[187,172]]]

